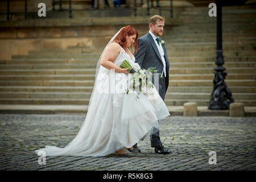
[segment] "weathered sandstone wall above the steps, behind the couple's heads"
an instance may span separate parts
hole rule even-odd
[[[30,50],[65,49],[70,46],[101,47],[123,26],[137,28],[139,36],[148,31],[148,17],[44,19],[0,24],[0,60],[27,55]],[[177,20],[166,18],[166,31]]]

